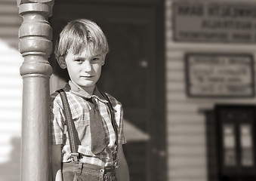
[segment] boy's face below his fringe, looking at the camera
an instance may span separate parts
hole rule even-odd
[[[101,53],[91,54],[86,51],[79,55],[70,52],[66,54],[65,62],[71,81],[92,94],[95,84],[100,78],[101,66],[105,63],[105,56]]]

